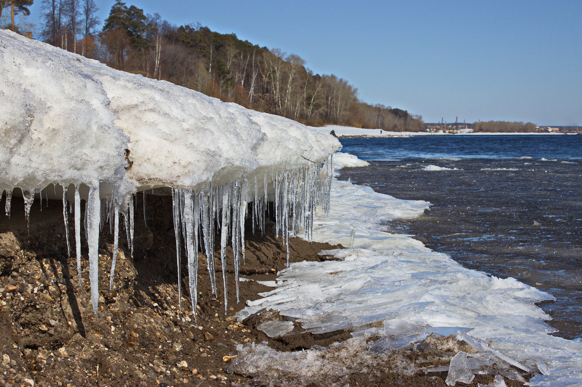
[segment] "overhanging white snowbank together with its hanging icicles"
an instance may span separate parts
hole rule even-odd
[[[0,31],[0,117],[0,193],[6,194],[6,213],[16,188],[22,190],[26,214],[35,195],[62,198],[64,208],[74,203],[79,271],[80,201],[87,202],[95,313],[101,218],[114,225],[117,246],[121,215],[133,246],[137,191],[172,189],[176,255],[180,260],[186,251],[195,310],[195,252],[203,246],[214,254],[217,223],[222,265],[227,240],[235,250],[235,266],[244,256],[242,224],[250,201],[257,204],[253,221],[263,228],[266,205],[275,203],[283,240],[299,230],[309,232],[315,205],[328,197],[329,158],[341,146],[292,120],[120,72],[6,30]],[[68,223],[66,211],[63,221]],[[113,262],[115,254],[116,249]],[[214,257],[208,261],[214,265]],[[111,275],[114,270],[113,264]],[[208,270],[214,273],[214,267]]]

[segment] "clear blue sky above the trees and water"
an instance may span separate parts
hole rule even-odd
[[[102,22],[114,1],[95,2]],[[582,0],[126,3],[297,54],[314,73],[349,81],[362,101],[425,122],[582,125]]]

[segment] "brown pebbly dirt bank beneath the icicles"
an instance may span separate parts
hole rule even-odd
[[[139,210],[141,204],[138,195]],[[0,206],[3,208],[4,200]],[[134,259],[129,258],[125,242],[120,242],[112,292],[108,290],[112,238],[108,225],[104,226],[97,317],[90,302],[88,261],[83,259],[83,285],[79,286],[76,262],[67,257],[61,203],[50,201],[47,207],[44,202],[40,211],[37,200],[29,231],[23,212],[22,198],[13,198],[12,216],[0,214],[0,387],[264,385],[251,377],[228,374],[231,360],[223,361],[223,357],[236,354],[237,344],[267,341],[256,329],[260,317],[242,324],[233,315],[246,300],[257,299],[258,293],[272,288],[242,282],[237,303],[229,265],[225,314],[222,273],[217,272],[220,285],[215,297],[210,292],[205,257],[200,254],[198,325],[187,321],[192,314],[185,262],[183,314],[178,310],[171,198],[147,196],[147,226],[141,211],[136,211]],[[73,240],[72,223],[69,233]],[[258,234],[247,233],[242,272],[258,281],[274,280],[276,271],[285,267],[285,246],[280,238]],[[328,248],[335,246],[293,239],[290,261],[325,260],[318,253]],[[84,246],[85,258],[86,253]],[[345,331],[312,335],[296,326],[293,335],[268,341],[275,349],[296,351],[349,338]],[[446,378],[446,373],[404,377],[390,367],[384,369],[380,374],[356,372],[347,382],[352,386],[443,386]],[[473,385],[477,381],[491,382],[492,377],[475,378]]]

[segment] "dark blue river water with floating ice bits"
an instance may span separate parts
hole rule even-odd
[[[582,136],[340,141],[371,163],[343,169],[340,179],[433,204],[391,228],[466,267],[551,293],[556,301],[541,307],[556,335],[582,336]]]

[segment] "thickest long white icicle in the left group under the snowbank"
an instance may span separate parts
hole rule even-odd
[[[101,199],[99,198],[99,183],[90,187],[86,204],[87,214],[87,244],[89,245],[89,278],[91,284],[91,304],[93,313],[97,315],[99,303],[99,224],[101,221]]]

